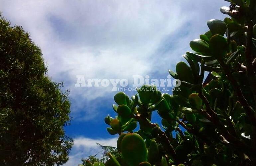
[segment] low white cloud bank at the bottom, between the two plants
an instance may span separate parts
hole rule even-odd
[[[96,144],[99,143],[104,146],[116,147],[117,137],[109,139],[91,139],[79,137],[74,139],[74,146],[69,155],[69,161],[64,164],[65,166],[75,166],[81,164],[82,158],[87,158],[89,155],[96,155],[101,152],[101,148]],[[97,155],[100,157],[101,153]]]

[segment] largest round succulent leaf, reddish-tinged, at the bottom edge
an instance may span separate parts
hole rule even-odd
[[[127,133],[121,141],[121,153],[129,166],[139,165],[147,160],[147,148],[137,133]]]

